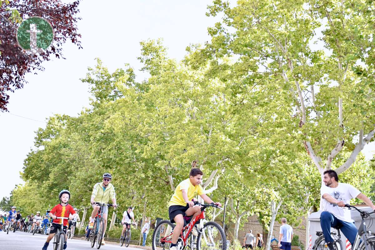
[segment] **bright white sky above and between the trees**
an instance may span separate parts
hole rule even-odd
[[[0,169],[4,173],[0,199],[22,183],[18,172],[33,146],[34,132],[45,127],[45,118],[57,113],[77,116],[88,106],[89,88],[79,78],[85,77],[88,66],[95,65],[94,58],[101,58],[110,71],[124,63],[137,70],[141,67],[136,59],[140,55],[139,42],[161,37],[169,48],[168,55],[180,60],[190,43],[210,39],[207,27],[218,19],[205,16],[208,4],[211,0],[82,1],[78,31],[83,49],[66,43],[63,48],[67,59],[44,62],[44,72],[27,75],[29,84],[10,93],[10,114],[0,113]],[[374,150],[374,143],[365,147],[368,159]]]

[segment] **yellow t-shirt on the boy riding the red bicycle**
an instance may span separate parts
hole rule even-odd
[[[172,195],[171,201],[169,201],[169,207],[173,205],[179,205],[179,206],[186,206],[186,202],[184,201],[184,198],[182,197],[182,191],[185,189],[187,193],[187,199],[191,201],[195,196],[202,195],[203,189],[201,185],[195,185],[191,184],[190,178],[186,179],[184,181],[181,181],[180,184],[176,187],[176,190],[174,190],[174,194]]]

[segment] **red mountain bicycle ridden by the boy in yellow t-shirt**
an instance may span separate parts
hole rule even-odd
[[[190,250],[226,250],[226,237],[223,228],[216,222],[199,223],[198,236],[194,237],[190,232],[193,226],[199,220],[205,220],[205,209],[215,207],[222,209],[215,204],[201,204],[194,202],[195,205],[202,206],[201,214],[196,216],[192,222],[183,227],[180,237],[177,239],[177,250],[183,250],[186,246]],[[154,229],[152,235],[153,250],[168,250],[172,243],[172,234],[175,225],[169,220],[162,220]],[[196,242],[195,242],[196,238]]]

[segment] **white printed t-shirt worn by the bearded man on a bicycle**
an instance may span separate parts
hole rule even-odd
[[[321,197],[325,193],[339,201],[343,201],[345,204],[350,204],[350,200],[356,198],[361,192],[350,184],[339,183],[335,188],[323,185],[320,188]],[[332,204],[326,201],[326,199],[322,198],[320,210],[330,212],[337,219],[343,220],[344,222],[354,222],[354,220],[351,219],[350,210],[339,207],[337,204]]]

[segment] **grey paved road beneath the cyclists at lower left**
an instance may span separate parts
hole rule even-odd
[[[25,232],[9,232],[6,234],[5,232],[0,232],[0,250],[41,250],[47,235],[40,235],[35,234],[32,235],[30,233]],[[52,239],[53,241],[53,239]],[[53,250],[53,243],[52,241],[49,243],[48,250]],[[70,240],[68,239],[68,247],[66,250],[94,250],[96,249],[96,245],[91,248],[90,243],[88,241],[83,240]],[[100,250],[139,250],[138,248],[133,247],[120,247],[116,245],[112,245],[110,243],[105,244],[105,246],[101,246]],[[143,250],[143,249],[142,249]]]

